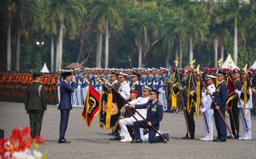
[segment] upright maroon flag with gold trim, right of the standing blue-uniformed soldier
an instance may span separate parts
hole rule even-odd
[[[234,81],[232,80],[231,72],[228,74],[226,85],[228,86],[228,101],[226,101],[226,106],[232,107],[232,99],[236,97],[236,93],[234,91]]]

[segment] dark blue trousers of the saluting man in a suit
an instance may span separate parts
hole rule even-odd
[[[59,140],[65,139],[65,132],[68,127],[68,118],[70,110],[60,110],[60,137]]]

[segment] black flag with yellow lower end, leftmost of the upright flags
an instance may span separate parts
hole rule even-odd
[[[175,73],[172,75],[174,82],[172,83],[172,109],[177,108],[177,95],[180,93],[179,91],[179,74],[177,73],[177,69]]]

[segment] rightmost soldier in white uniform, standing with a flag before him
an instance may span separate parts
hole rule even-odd
[[[245,121],[247,124],[247,127],[249,128],[249,133],[247,133],[245,122],[242,117],[242,111],[240,110],[240,120],[241,124],[243,126],[243,136],[239,137],[239,140],[251,140],[251,108],[253,108],[253,91],[255,92],[255,89],[251,89],[250,87],[247,87],[249,85],[249,81],[246,80],[246,70],[242,70],[242,78],[243,78],[243,86],[241,91],[236,90],[236,93],[240,96],[240,103],[238,103],[238,107],[242,108],[244,107],[244,87],[246,87],[246,95],[247,95],[247,103],[245,105]],[[247,82],[245,82],[247,81]]]

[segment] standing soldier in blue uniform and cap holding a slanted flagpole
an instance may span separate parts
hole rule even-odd
[[[213,98],[217,103],[217,106],[215,107],[213,102],[210,106],[210,108],[213,109],[214,121],[218,132],[217,139],[212,141],[216,142],[226,141],[226,125],[217,111],[220,110],[225,119],[226,101],[228,100],[228,87],[226,86],[225,76],[225,72],[222,72],[221,70],[218,72],[217,80],[219,83],[216,87],[216,92],[213,94]],[[208,92],[208,94],[210,94],[210,92]]]

